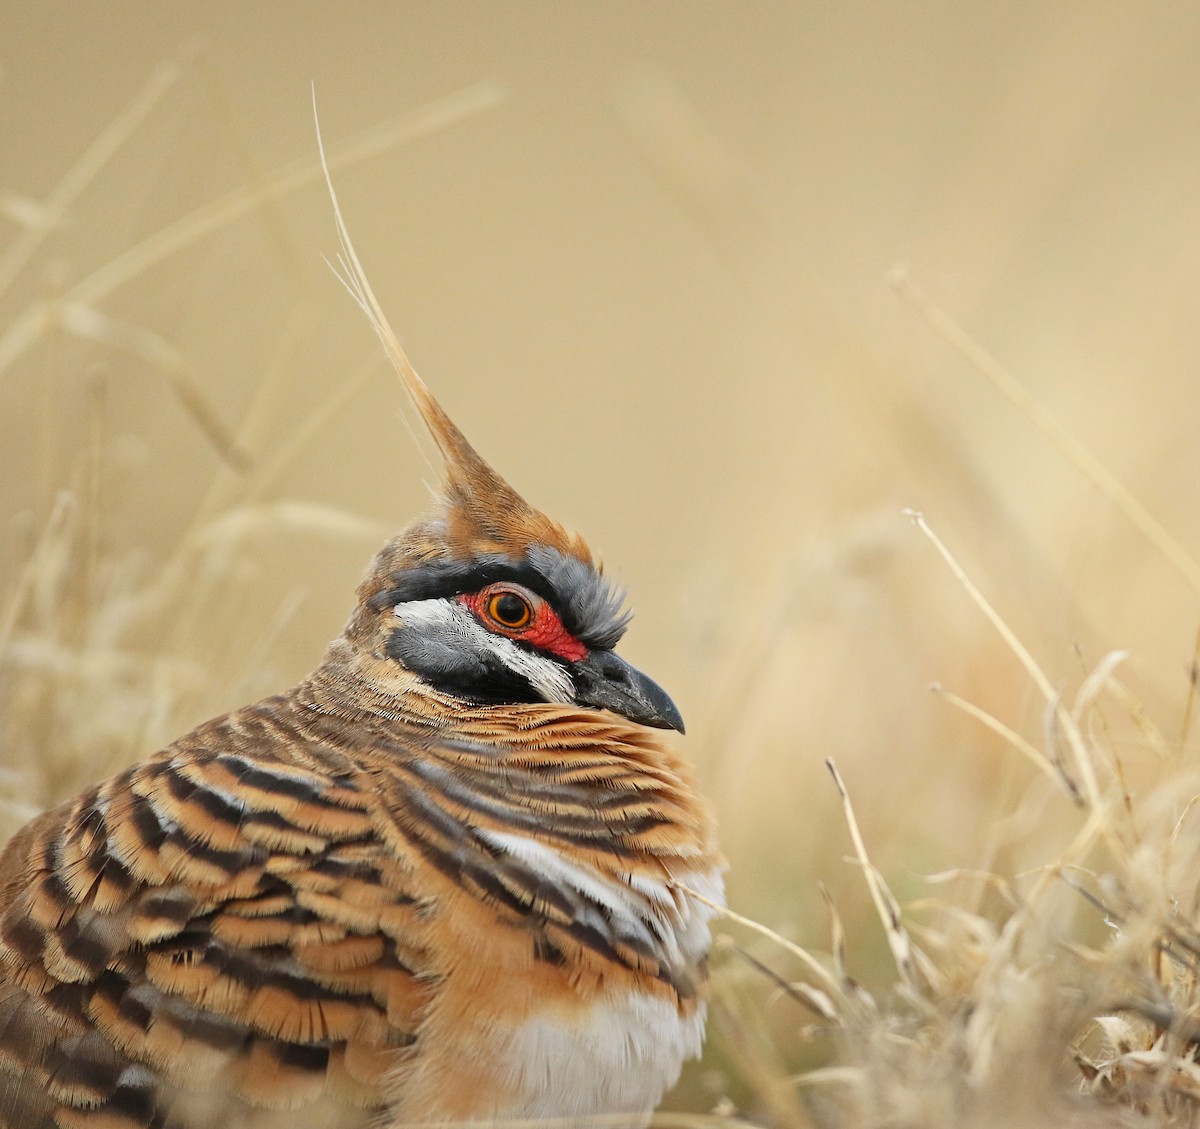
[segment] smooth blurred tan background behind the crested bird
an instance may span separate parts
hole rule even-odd
[[[313,84],[416,367],[628,585],[624,653],[688,719],[739,909],[816,947],[818,883],[853,915],[829,756],[900,893],[1034,834],[994,827],[1031,770],[928,686],[1033,740],[1043,705],[905,508],[1064,693],[1128,649],[1182,739],[1196,591],[889,271],[1200,553],[1194,6],[10,0],[0,22],[0,833],[305,673],[424,505],[395,379],[323,262]]]

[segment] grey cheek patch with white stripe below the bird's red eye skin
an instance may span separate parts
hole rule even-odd
[[[409,669],[433,680],[466,680],[499,663],[526,679],[544,701],[575,702],[575,684],[559,663],[493,635],[457,600],[397,603],[395,615],[406,630],[392,637],[391,653]]]

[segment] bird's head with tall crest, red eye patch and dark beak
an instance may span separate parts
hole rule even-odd
[[[666,692],[614,650],[629,613],[583,540],[529,505],[467,442],[388,324],[337,208],[343,282],[442,454],[433,514],[392,538],[343,639],[374,677],[473,704],[551,702],[683,732]],[[391,673],[404,678],[390,679]]]

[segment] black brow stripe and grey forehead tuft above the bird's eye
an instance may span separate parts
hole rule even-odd
[[[588,647],[611,649],[629,624],[622,593],[582,560],[534,546],[518,560],[499,554],[470,560],[434,560],[392,573],[392,587],[371,597],[377,611],[410,600],[478,591],[497,581],[523,584],[558,612],[563,625]]]

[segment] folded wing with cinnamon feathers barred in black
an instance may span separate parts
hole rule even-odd
[[[10,843],[0,1125],[382,1104],[431,991],[421,911],[374,781],[302,720],[210,722]]]

